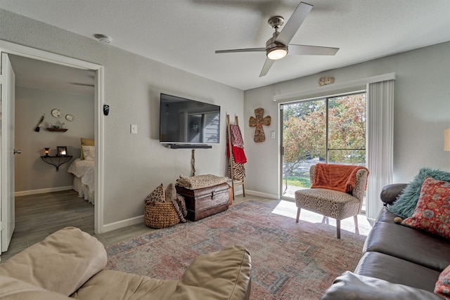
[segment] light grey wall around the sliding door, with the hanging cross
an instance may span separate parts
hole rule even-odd
[[[450,152],[444,152],[443,131],[450,128],[450,42],[371,60],[308,77],[245,91],[245,119],[263,107],[271,115],[264,126],[266,141],[252,141],[255,129],[245,126],[248,157],[246,188],[277,197],[278,103],[274,96],[319,88],[319,78],[335,77],[335,84],[395,72],[394,182],[407,183],[421,167],[450,171]],[[330,86],[326,86],[330,88]],[[325,94],[333,94],[333,91]],[[267,138],[276,131],[276,139]],[[263,174],[263,175],[262,175]]]

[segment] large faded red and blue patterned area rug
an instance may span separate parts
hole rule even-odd
[[[107,247],[114,270],[178,280],[198,255],[240,244],[252,256],[250,299],[319,299],[353,270],[366,236],[274,214],[274,204],[244,202],[206,219],[179,223]]]

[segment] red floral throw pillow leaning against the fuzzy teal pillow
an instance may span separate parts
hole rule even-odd
[[[413,216],[401,224],[450,239],[450,183],[426,178]]]

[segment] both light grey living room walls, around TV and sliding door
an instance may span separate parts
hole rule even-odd
[[[279,120],[273,96],[316,88],[322,76],[333,76],[338,84],[395,72],[394,181],[411,180],[420,167],[450,169],[450,152],[442,150],[442,131],[450,127],[450,43],[244,93],[1,9],[0,26],[0,39],[5,41],[105,67],[105,103],[110,105],[110,115],[101,119],[105,127],[105,224],[141,216],[143,199],[151,190],[191,172],[191,150],[170,150],[158,141],[161,92],[221,105],[222,137],[226,113],[238,115],[248,157],[246,188],[278,197]],[[271,126],[264,127],[264,143],[253,142],[255,129],[248,126],[257,107],[264,107],[264,115],[272,117]],[[130,124],[138,125],[138,134],[129,133]],[[276,131],[276,138],[270,138],[270,131]],[[196,150],[197,174],[224,175],[225,147],[221,138],[220,145],[211,150]]]

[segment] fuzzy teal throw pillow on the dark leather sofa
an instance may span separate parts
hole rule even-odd
[[[413,180],[406,185],[403,193],[397,198],[394,204],[387,207],[392,214],[397,214],[406,219],[413,215],[420,196],[420,188],[425,178],[432,177],[439,181],[450,182],[450,172],[439,169],[422,168]]]

